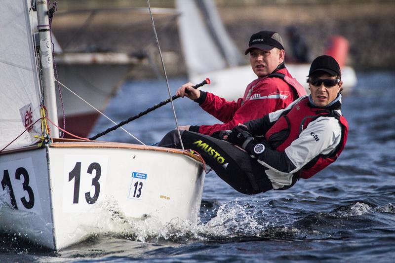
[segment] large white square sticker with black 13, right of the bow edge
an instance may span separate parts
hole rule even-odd
[[[107,177],[107,156],[66,155],[63,176],[63,211],[87,212],[103,199]]]

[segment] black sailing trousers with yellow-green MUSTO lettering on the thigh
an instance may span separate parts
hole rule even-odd
[[[180,131],[185,149],[198,152],[215,173],[232,188],[244,194],[273,189],[264,166],[234,145],[196,132]],[[158,146],[181,149],[177,130],[168,132]]]

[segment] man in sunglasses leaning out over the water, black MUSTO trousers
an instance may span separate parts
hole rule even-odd
[[[348,123],[341,113],[343,82],[336,60],[326,55],[317,57],[308,77],[310,96],[221,131],[219,137],[227,142],[182,131],[184,147],[197,151],[219,177],[244,194],[283,190],[299,178],[312,177],[342,152]],[[159,145],[169,141],[173,144],[166,147],[180,148],[174,132]]]

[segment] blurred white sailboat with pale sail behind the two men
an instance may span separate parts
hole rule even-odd
[[[176,0],[180,12],[179,32],[188,75],[196,83],[209,77],[210,87],[202,87],[227,100],[237,100],[244,94],[245,87],[257,76],[250,65],[245,65],[241,53],[223,26],[217,8],[209,0]],[[289,73],[305,86],[310,64],[288,64]],[[342,68],[343,93],[350,92],[356,85],[353,68]]]

